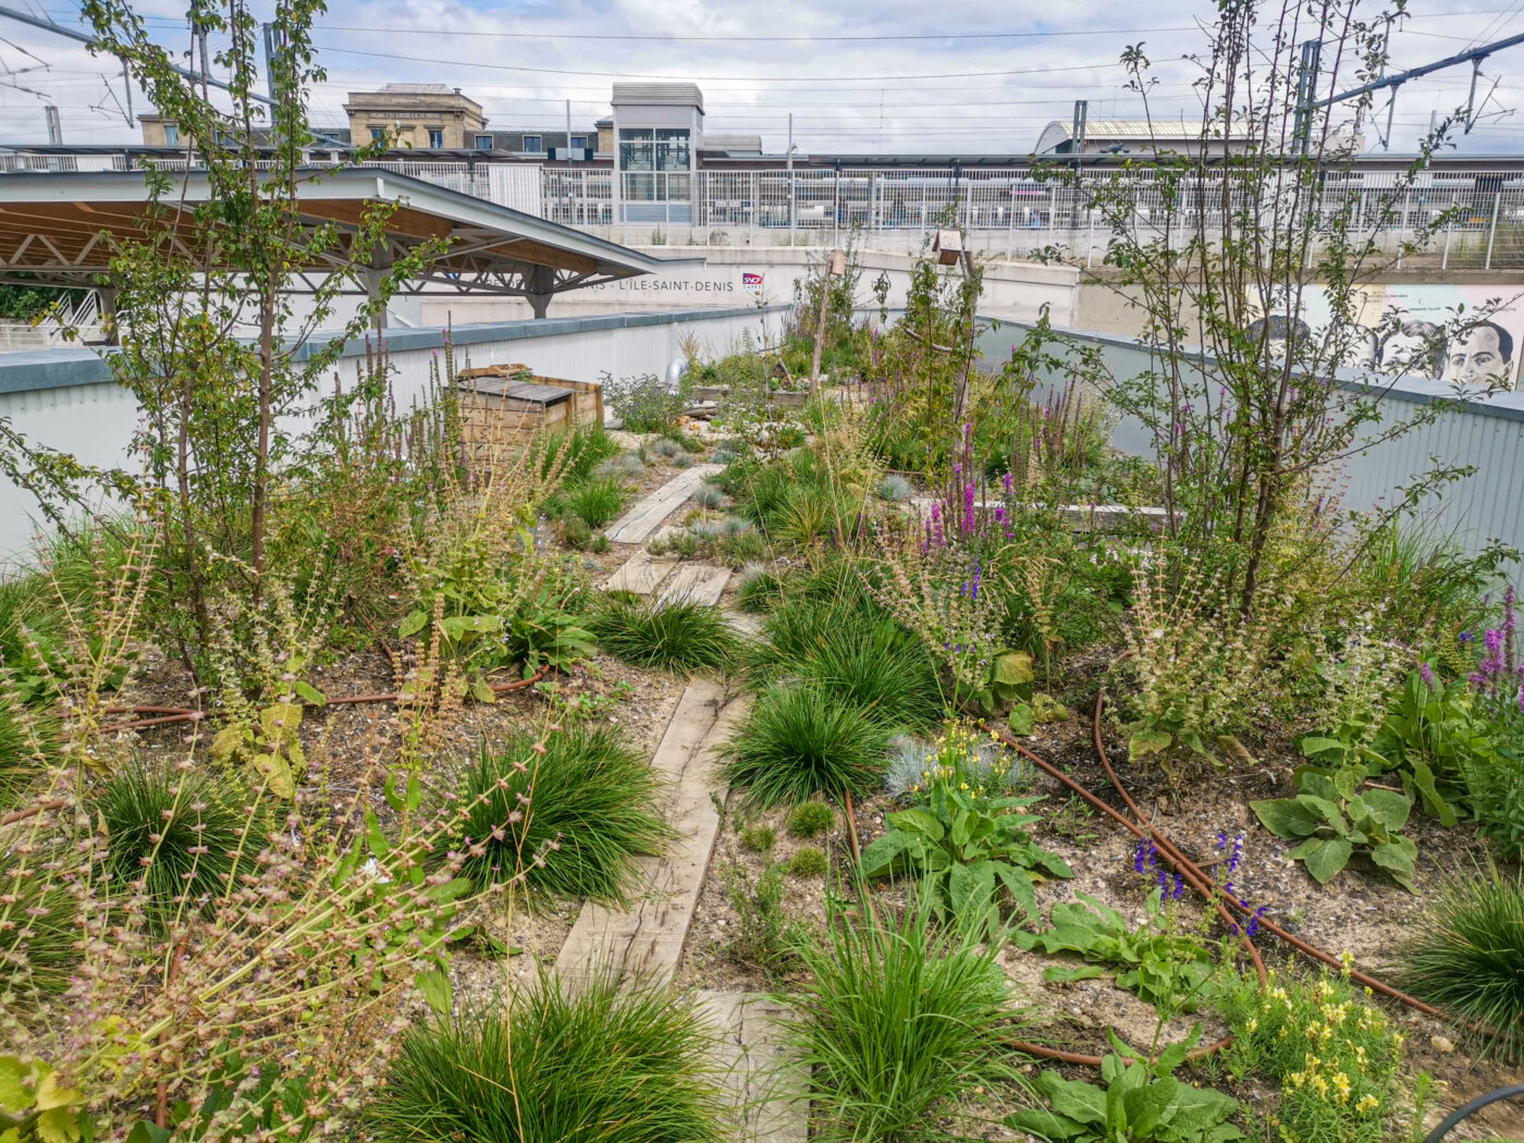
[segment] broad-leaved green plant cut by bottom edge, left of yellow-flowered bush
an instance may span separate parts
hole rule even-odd
[[[1018,1111],[1007,1126],[1052,1143],[1225,1143],[1245,1138],[1227,1120],[1237,1100],[1199,1088],[1172,1073],[1201,1039],[1201,1026],[1149,1061],[1111,1032],[1113,1055],[1100,1061],[1102,1084],[1064,1079],[1056,1071],[1038,1076],[1038,1094],[1052,1109]]]

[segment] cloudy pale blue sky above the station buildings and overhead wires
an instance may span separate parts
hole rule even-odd
[[[67,0],[5,3],[79,27]],[[183,49],[183,3],[145,0],[139,11],[160,43]],[[463,88],[500,130],[561,126],[570,99],[576,130],[608,113],[616,81],[672,78],[703,87],[707,130],[757,133],[779,154],[792,113],[805,152],[1023,155],[1076,99],[1090,101],[1093,120],[1138,117],[1117,58],[1140,41],[1155,61],[1155,117],[1198,116],[1198,72],[1184,56],[1204,49],[1199,21],[1215,12],[1201,0],[331,0],[314,37],[328,82],[312,94],[312,117],[341,125],[346,91],[413,81]],[[1411,0],[1393,32],[1393,70],[1519,32],[1524,0]],[[0,37],[0,142],[46,142],[47,104],[59,108],[66,142],[139,139],[114,61],[8,18]],[[1460,152],[1524,152],[1524,120],[1510,113],[1521,75],[1524,44],[1486,62],[1478,91],[1503,82],[1457,140]],[[1463,105],[1469,84],[1462,66],[1404,87],[1391,149],[1411,151],[1431,113]],[[131,110],[146,110],[140,91]],[[1385,125],[1384,104],[1373,117]],[[1376,134],[1367,123],[1369,148]]]

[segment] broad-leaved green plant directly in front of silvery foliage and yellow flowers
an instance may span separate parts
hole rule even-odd
[[[1073,876],[1058,853],[1032,840],[1027,828],[1041,818],[1017,812],[1041,800],[983,799],[939,782],[925,805],[888,815],[888,831],[863,850],[863,876],[919,878],[919,893],[940,917],[988,908],[1004,887],[1035,917],[1033,881]]]

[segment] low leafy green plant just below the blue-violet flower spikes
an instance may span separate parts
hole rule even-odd
[[[1119,988],[1137,992],[1161,1012],[1190,1012],[1199,1004],[1216,962],[1193,934],[1177,931],[1161,888],[1148,895],[1146,917],[1137,927],[1088,893],[1074,896],[1077,902],[1053,905],[1053,928],[1017,934],[1026,949],[1079,952],[1090,962],[1084,968],[1049,968],[1044,980],[1090,980],[1113,968]]]

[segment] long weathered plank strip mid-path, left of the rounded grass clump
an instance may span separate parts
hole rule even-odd
[[[556,957],[556,974],[570,983],[597,975],[643,974],[668,981],[677,971],[709,852],[719,832],[716,753],[744,713],[745,700],[724,710],[718,683],[695,680],[678,701],[652,768],[668,786],[666,821],[677,832],[663,858],[642,858],[645,896],[629,910],[591,902],[582,907]]]

